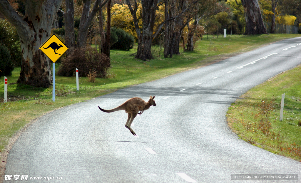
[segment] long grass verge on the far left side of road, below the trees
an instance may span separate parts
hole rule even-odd
[[[94,83],[88,78],[79,78],[79,91],[76,91],[76,79],[73,77],[56,76],[56,96],[52,101],[52,88],[37,88],[29,85],[8,85],[8,98],[4,103],[4,78],[0,78],[0,153],[3,152],[9,139],[33,119],[63,106],[85,101],[97,96],[114,92],[121,88],[153,81],[185,70],[202,67],[207,64],[224,59],[231,55],[250,51],[262,45],[281,39],[292,38],[299,35],[275,34],[260,36],[228,36],[227,38],[198,41],[195,51],[183,52],[173,55],[172,58],[163,57],[163,48],[152,47],[155,59],[141,61],[129,56],[136,52],[137,47],[131,51],[111,50],[110,74],[107,78],[96,78]],[[183,49],[181,49],[183,50]],[[59,64],[56,64],[58,70]],[[20,68],[15,68],[8,83],[16,82]]]

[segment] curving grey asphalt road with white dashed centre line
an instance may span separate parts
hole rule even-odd
[[[276,42],[48,113],[17,139],[5,175],[28,175],[26,182],[298,182],[231,181],[231,174],[301,176],[301,163],[240,140],[225,113],[250,88],[301,64],[300,43]],[[150,95],[157,106],[135,118],[137,137],[124,126],[124,111],[98,109]]]

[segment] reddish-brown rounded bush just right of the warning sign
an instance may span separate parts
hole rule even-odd
[[[90,70],[96,72],[96,77],[105,77],[110,67],[110,58],[98,53],[95,48],[77,48],[62,60],[57,75],[73,76],[75,68],[79,70],[79,77],[87,76]]]

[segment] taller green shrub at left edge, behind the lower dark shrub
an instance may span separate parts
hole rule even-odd
[[[5,45],[11,53],[11,61],[20,66],[22,60],[20,39],[17,29],[8,20],[0,19],[0,44]]]

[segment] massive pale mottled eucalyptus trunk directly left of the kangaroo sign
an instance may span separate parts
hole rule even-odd
[[[26,8],[22,19],[7,0],[0,0],[0,11],[17,29],[22,51],[22,66],[17,83],[49,87],[52,83],[50,60],[39,50],[49,38],[55,14],[62,0],[23,2]]]

